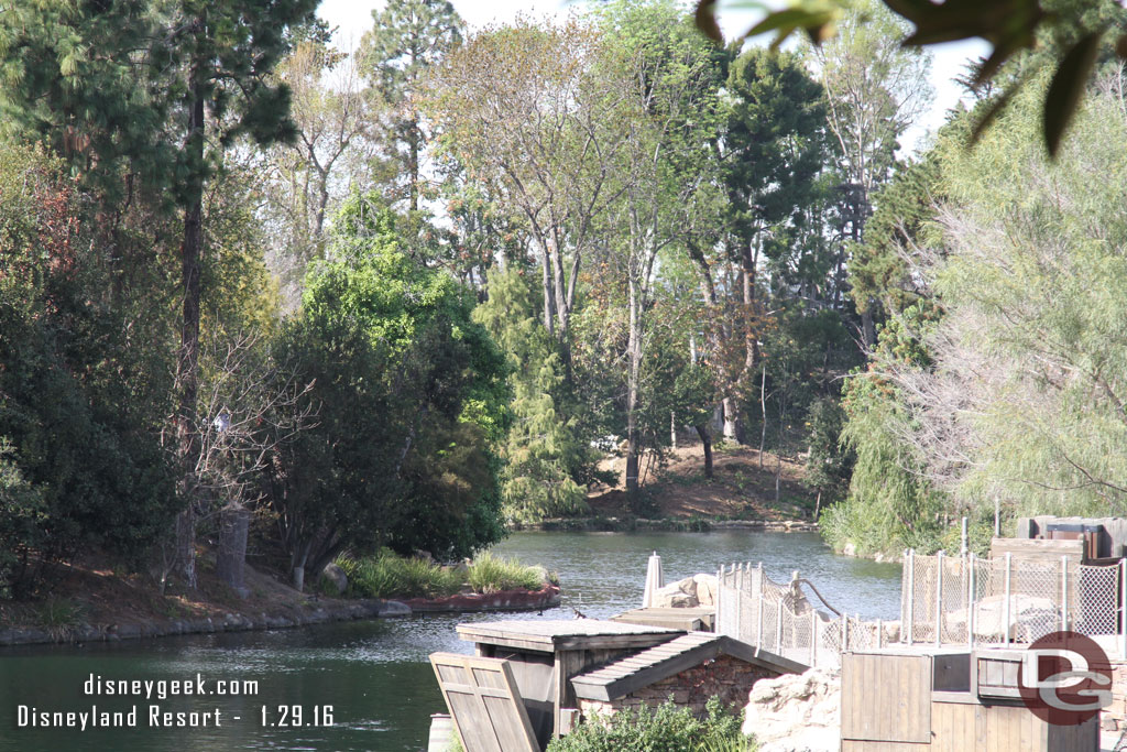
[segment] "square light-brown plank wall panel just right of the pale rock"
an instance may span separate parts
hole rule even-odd
[[[843,743],[846,740],[930,744],[931,656],[842,655]]]

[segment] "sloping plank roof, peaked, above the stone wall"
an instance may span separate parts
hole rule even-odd
[[[800,673],[806,669],[795,661],[765,651],[756,654],[755,648],[730,637],[694,631],[574,676],[571,685],[576,697],[610,701],[721,654],[778,673]]]

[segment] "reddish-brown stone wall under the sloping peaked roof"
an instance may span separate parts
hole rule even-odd
[[[720,655],[610,702],[580,700],[579,710],[585,718],[596,714],[606,716],[642,705],[656,708],[672,696],[676,705],[689,706],[694,714],[703,716],[704,704],[710,697],[718,696],[725,705],[743,707],[756,681],[777,675],[739,658]]]

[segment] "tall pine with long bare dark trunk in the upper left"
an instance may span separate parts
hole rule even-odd
[[[189,586],[204,186],[212,159],[238,136],[293,138],[289,89],[267,74],[289,46],[287,29],[310,21],[314,7],[313,0],[33,3],[0,17],[3,108],[18,134],[45,136],[109,195],[139,185],[181,213],[175,422],[187,508],[177,537]]]

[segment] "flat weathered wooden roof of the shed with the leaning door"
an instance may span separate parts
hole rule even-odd
[[[683,634],[664,627],[602,619],[474,621],[458,625],[458,636],[471,643],[543,653],[607,647],[649,647]]]

